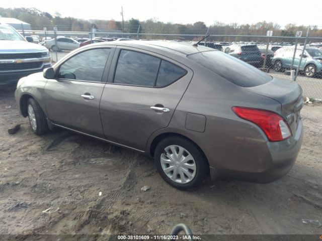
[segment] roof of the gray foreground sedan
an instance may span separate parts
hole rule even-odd
[[[140,48],[145,50],[158,49],[163,52],[176,52],[177,54],[190,55],[204,51],[216,51],[212,48],[204,46],[193,46],[192,43],[172,42],[172,41],[144,41],[144,40],[130,40],[130,41],[111,41],[97,43],[96,45],[117,45],[127,46],[133,48]]]

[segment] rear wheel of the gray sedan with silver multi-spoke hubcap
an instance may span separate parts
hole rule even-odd
[[[154,160],[160,176],[171,186],[181,190],[199,187],[208,175],[209,165],[203,153],[194,143],[182,137],[161,140],[155,148]]]

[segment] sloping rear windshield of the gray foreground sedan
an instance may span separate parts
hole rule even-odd
[[[272,80],[272,76],[223,52],[208,51],[187,57],[241,87],[254,87]]]

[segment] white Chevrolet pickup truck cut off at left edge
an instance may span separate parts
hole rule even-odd
[[[10,25],[0,23],[0,86],[16,85],[21,77],[50,66],[45,47],[27,42]]]

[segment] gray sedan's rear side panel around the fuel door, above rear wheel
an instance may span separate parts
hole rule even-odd
[[[277,101],[250,93],[199,66],[194,69],[169,127],[159,133],[173,132],[191,139],[202,149],[211,167],[247,172],[267,170],[272,158],[265,134],[255,124],[236,116],[232,106],[280,112]],[[185,128],[188,112],[206,116],[204,132]]]

